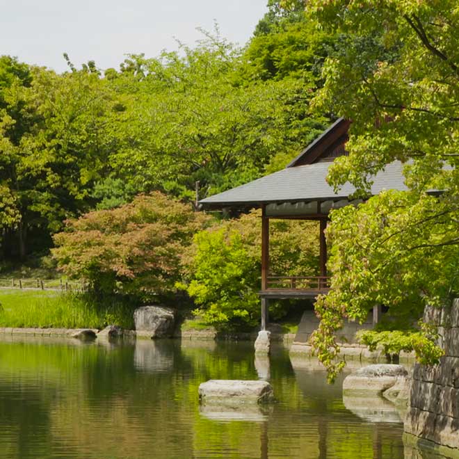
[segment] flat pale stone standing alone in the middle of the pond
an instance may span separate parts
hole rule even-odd
[[[202,403],[267,403],[274,400],[266,381],[211,379],[199,387]]]

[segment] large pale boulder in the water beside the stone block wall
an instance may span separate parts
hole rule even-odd
[[[382,394],[397,383],[398,378],[408,376],[408,371],[401,365],[368,365],[346,376],[343,382],[343,394],[351,396],[373,396]]]

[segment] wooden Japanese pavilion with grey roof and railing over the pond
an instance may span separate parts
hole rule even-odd
[[[348,204],[355,192],[351,184],[344,184],[335,193],[326,182],[328,168],[332,161],[347,154],[350,122],[339,118],[321,136],[310,143],[286,168],[210,196],[200,201],[202,209],[247,210],[261,208],[261,326],[267,321],[269,298],[315,298],[319,293],[327,293],[327,246],[324,230],[328,214]],[[385,170],[371,177],[371,195],[383,190],[407,190],[403,177],[403,165],[394,161]],[[317,277],[279,277],[269,273],[269,220],[286,218],[296,220],[318,220],[320,241],[320,275]]]

